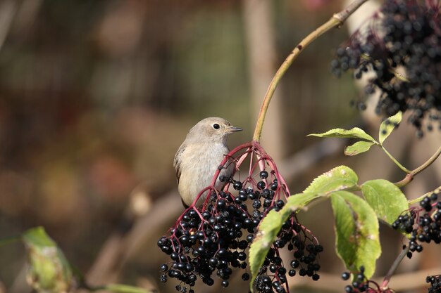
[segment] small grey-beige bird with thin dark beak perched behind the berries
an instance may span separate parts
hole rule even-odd
[[[202,119],[190,129],[173,161],[184,207],[190,207],[199,192],[211,184],[216,169],[229,152],[225,144],[228,134],[241,130],[219,117]],[[233,164],[228,165],[219,176],[231,176],[233,168]],[[221,189],[224,184],[218,180],[215,187]],[[206,194],[199,198],[198,204],[205,198]]]

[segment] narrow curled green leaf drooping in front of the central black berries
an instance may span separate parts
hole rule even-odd
[[[249,267],[251,271],[250,289],[252,291],[252,285],[256,279],[259,269],[265,261],[266,254],[271,248],[271,245],[275,241],[280,228],[283,223],[290,218],[292,213],[302,209],[306,204],[309,204],[311,200],[320,197],[321,195],[313,193],[299,193],[297,195],[291,195],[280,211],[270,211],[266,215],[259,225],[259,230],[256,233],[256,238],[249,247]]]

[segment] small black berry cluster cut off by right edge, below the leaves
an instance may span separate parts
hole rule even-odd
[[[399,216],[392,228],[409,233],[409,252],[422,252],[421,243],[441,243],[441,202],[437,202],[437,193],[424,197],[419,207],[412,208],[409,214]],[[404,245],[403,249],[406,248]]]

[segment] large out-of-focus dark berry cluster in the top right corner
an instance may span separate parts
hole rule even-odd
[[[418,136],[426,117],[428,131],[432,123],[441,128],[441,14],[435,2],[386,0],[366,31],[354,33],[331,62],[337,76],[349,69],[357,79],[375,72],[366,94],[380,90],[376,112],[392,116],[409,110]],[[359,108],[366,105],[359,102]]]

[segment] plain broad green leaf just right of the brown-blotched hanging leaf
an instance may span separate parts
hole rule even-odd
[[[394,183],[384,179],[366,181],[361,185],[364,198],[378,219],[392,225],[402,211],[409,209],[406,196]]]

